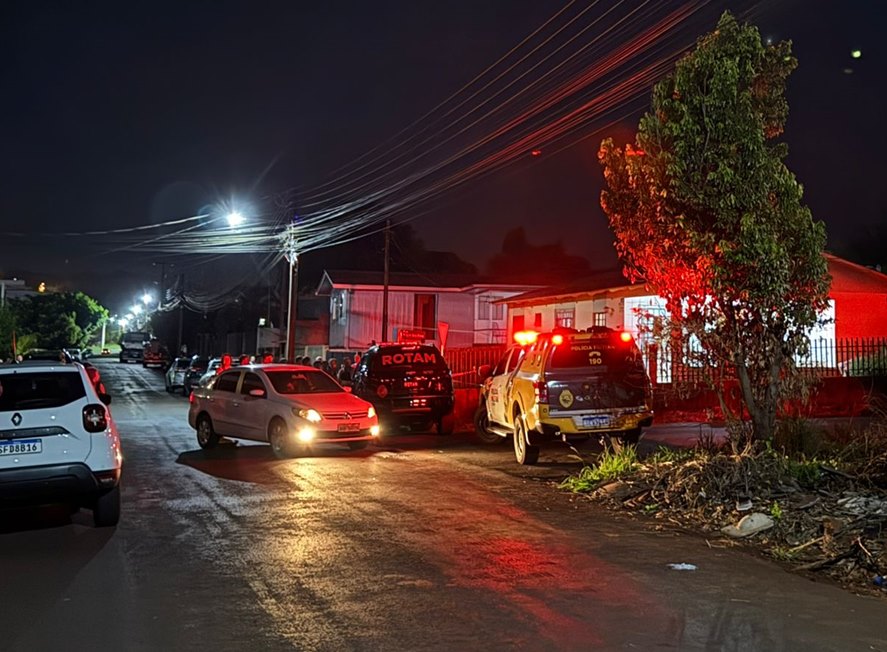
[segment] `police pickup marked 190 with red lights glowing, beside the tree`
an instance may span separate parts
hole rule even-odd
[[[526,349],[512,347],[495,369],[480,370],[484,433],[511,435],[520,464],[535,464],[547,441],[602,435],[614,448],[636,444],[653,409],[631,334],[595,326],[532,335],[517,333]]]

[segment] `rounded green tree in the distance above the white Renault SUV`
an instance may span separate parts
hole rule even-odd
[[[108,310],[82,292],[38,294],[11,302],[22,334],[46,348],[83,347],[108,318]]]

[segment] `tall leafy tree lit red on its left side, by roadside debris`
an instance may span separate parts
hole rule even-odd
[[[724,14],[653,91],[635,145],[601,143],[601,204],[626,272],[668,305],[672,330],[735,371],[753,433],[769,438],[797,385],[793,356],[826,306],[825,228],[776,139],[788,42]]]

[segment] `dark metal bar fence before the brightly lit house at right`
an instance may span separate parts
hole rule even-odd
[[[687,342],[672,346],[647,345],[643,353],[650,378],[656,384],[699,383],[712,377],[734,377],[727,367],[714,368],[701,362],[698,346]],[[818,378],[887,376],[887,339],[816,340],[810,343],[806,355],[795,358],[795,365],[802,373]]]

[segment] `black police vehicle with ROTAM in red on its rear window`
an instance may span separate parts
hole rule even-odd
[[[379,421],[392,428],[438,434],[453,432],[453,378],[440,350],[430,344],[383,343],[360,359],[352,392],[376,408]]]

